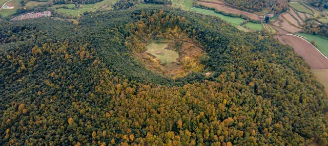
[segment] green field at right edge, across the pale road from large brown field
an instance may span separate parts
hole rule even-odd
[[[319,35],[311,35],[311,34],[304,34],[304,33],[298,33],[297,35],[304,37],[306,40],[312,42],[315,41],[315,44],[317,45],[317,48],[320,50],[320,52],[328,56],[328,38],[319,36]]]

